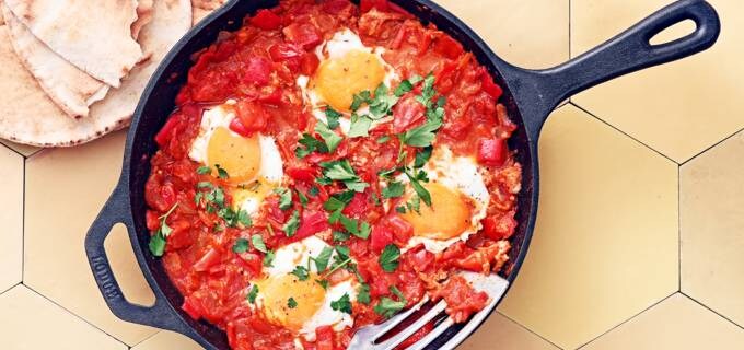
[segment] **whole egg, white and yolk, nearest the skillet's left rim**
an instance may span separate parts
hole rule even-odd
[[[264,198],[281,183],[283,162],[271,136],[243,137],[230,130],[235,118],[234,100],[211,107],[201,115],[199,135],[188,156],[210,167],[220,166],[230,176],[234,209],[256,213]]]

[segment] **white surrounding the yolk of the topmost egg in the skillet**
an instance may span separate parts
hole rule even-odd
[[[391,90],[394,89],[392,84],[394,81],[399,80],[399,75],[396,72],[395,68],[387,63],[387,61],[385,61],[385,59],[382,57],[382,55],[385,52],[385,48],[379,46],[375,47],[364,46],[364,44],[362,43],[361,38],[359,38],[357,33],[349,28],[344,28],[341,31],[336,32],[336,34],[334,34],[334,36],[330,39],[326,40],[325,43],[315,48],[315,55],[321,60],[321,62],[323,62],[328,59],[341,58],[344,57],[344,55],[352,50],[373,54],[380,60],[380,63],[382,63],[382,66],[385,68],[385,78],[383,79],[383,82],[385,83],[385,85],[387,85],[388,89]],[[323,101],[323,97],[321,97],[321,95],[315,90],[313,90],[309,84],[310,77],[307,75],[298,77],[297,85],[302,91],[302,96],[305,100],[305,102],[310,104],[313,116],[323,122],[328,122],[324,112],[324,108],[327,104]],[[357,110],[357,114],[358,115],[369,114],[369,106],[363,106],[359,108],[359,110]],[[392,118],[382,118],[380,120],[374,120],[371,127],[391,120]],[[344,135],[348,135],[349,128],[351,127],[349,116],[345,116],[340,118],[338,121],[341,132],[344,132]]]

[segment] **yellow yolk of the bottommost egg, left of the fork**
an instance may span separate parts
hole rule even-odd
[[[315,280],[318,277],[311,273],[310,278],[300,281],[294,275],[269,277],[258,284],[259,293],[264,296],[263,308],[267,319],[286,328],[299,331],[305,322],[315,315],[323,306],[325,290]],[[297,306],[288,305],[289,299],[297,302]]]

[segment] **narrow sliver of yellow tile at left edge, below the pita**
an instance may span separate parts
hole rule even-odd
[[[23,156],[0,145],[0,292],[21,282]]]

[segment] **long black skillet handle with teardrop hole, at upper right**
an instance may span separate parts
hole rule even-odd
[[[691,20],[695,32],[675,40],[651,45],[650,39],[674,24]],[[509,67],[504,77],[519,102],[531,139],[536,140],[547,115],[569,96],[643,68],[674,61],[711,47],[721,23],[705,0],[674,2],[598,47],[555,68],[525,70]],[[536,102],[535,102],[536,101]]]

